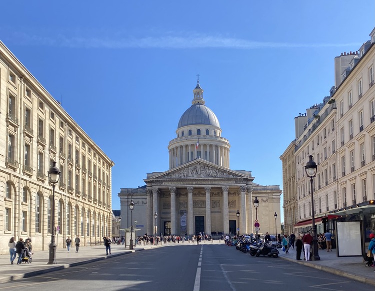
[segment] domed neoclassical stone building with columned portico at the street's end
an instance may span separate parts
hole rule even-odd
[[[279,186],[261,186],[253,182],[251,172],[229,168],[230,144],[221,136],[215,114],[205,106],[199,81],[191,103],[168,145],[169,170],[147,174],[144,187],[121,188],[118,193],[121,228],[131,224],[128,204],[133,199],[132,218],[141,232],[234,234],[239,228],[240,233],[251,233],[256,215],[252,201],[257,196],[259,232],[273,233],[274,213],[280,209]]]

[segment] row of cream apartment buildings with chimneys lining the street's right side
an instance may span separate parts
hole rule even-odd
[[[335,86],[323,103],[295,118],[295,200],[297,221],[285,227],[306,231],[311,227],[310,179],[304,166],[308,155],[317,164],[313,200],[317,233],[335,232],[334,220],[361,221],[363,241],[375,231],[375,29],[358,51],[334,60]],[[283,169],[290,146],[281,160]],[[285,183],[290,173],[283,170]],[[285,190],[284,190],[285,192]],[[288,196],[284,209],[289,212]]]

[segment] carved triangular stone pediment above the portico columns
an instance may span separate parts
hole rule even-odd
[[[208,179],[208,178],[248,178],[249,176],[218,166],[202,159],[195,159],[163,173],[150,177],[154,179]]]

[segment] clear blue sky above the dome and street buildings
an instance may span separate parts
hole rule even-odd
[[[114,161],[113,209],[120,188],[168,169],[196,74],[231,144],[230,168],[282,189],[279,156],[295,138],[294,117],[329,95],[334,57],[358,50],[375,27],[369,0],[35,1],[1,10],[1,41]]]

